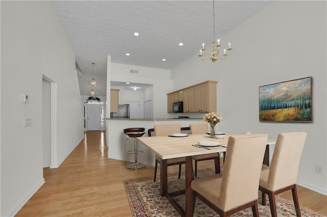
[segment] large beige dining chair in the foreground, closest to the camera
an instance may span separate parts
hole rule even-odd
[[[198,197],[220,216],[248,207],[259,216],[258,187],[267,140],[267,134],[229,137],[224,171],[192,181],[193,209]]]

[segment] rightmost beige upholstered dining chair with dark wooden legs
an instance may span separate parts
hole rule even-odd
[[[262,204],[266,205],[269,197],[271,216],[277,216],[275,195],[292,190],[296,216],[301,216],[296,191],[298,166],[306,132],[289,132],[278,134],[270,167],[262,165],[259,190],[262,192]]]

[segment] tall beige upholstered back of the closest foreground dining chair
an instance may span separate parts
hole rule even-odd
[[[268,134],[229,137],[218,202],[222,210],[258,200],[267,140]]]

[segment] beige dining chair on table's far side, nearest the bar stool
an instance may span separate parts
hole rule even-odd
[[[154,135],[156,135],[156,136],[170,135],[174,132],[180,132],[180,131],[181,131],[180,124],[155,124],[154,125]],[[161,160],[162,159],[158,155],[155,155],[153,182],[155,182],[155,180],[156,180],[158,162],[160,162]],[[177,158],[167,159],[167,166],[179,165],[178,179],[180,179],[182,164],[185,164],[185,157],[177,157]]]

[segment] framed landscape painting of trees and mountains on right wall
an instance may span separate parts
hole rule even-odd
[[[312,122],[312,77],[259,87],[259,120]]]

